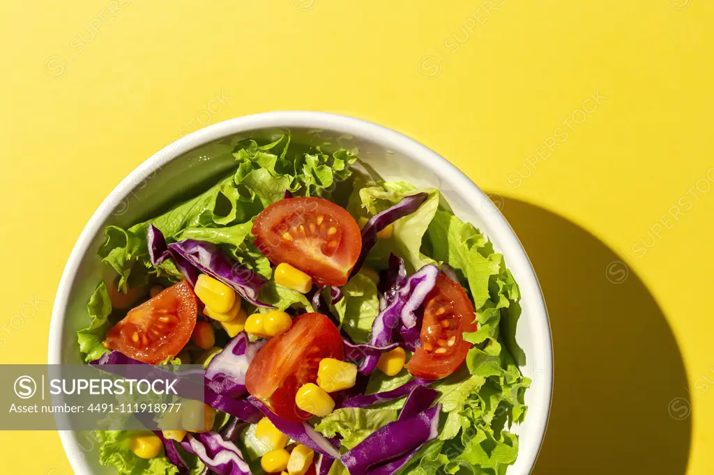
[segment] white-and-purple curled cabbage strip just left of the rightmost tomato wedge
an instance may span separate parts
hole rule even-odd
[[[370,344],[374,347],[383,347],[391,341],[393,330],[403,322],[405,327],[416,326],[414,311],[422,304],[426,295],[436,285],[439,269],[436,265],[428,264],[414,272],[405,282],[404,286],[396,292],[391,303],[381,310],[372,324],[372,337]],[[366,357],[359,369],[363,374],[371,374],[377,367],[379,358]]]

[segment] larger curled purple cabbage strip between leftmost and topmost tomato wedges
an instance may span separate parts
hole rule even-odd
[[[245,300],[260,307],[270,307],[258,301],[265,277],[232,260],[211,242],[185,239],[169,244],[169,249],[178,253],[198,270],[238,292]]]

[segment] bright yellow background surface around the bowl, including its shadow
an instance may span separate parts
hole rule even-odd
[[[556,350],[536,473],[714,473],[713,21],[707,0],[2,1],[0,362],[46,362],[71,247],[149,155],[201,123],[345,113],[438,151],[523,230]],[[71,473],[54,432],[0,453]]]

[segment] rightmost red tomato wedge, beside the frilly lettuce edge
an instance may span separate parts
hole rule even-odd
[[[458,369],[471,349],[463,332],[476,332],[476,313],[466,291],[457,282],[439,274],[436,286],[426,296],[421,327],[421,347],[406,368],[423,379],[441,379]]]

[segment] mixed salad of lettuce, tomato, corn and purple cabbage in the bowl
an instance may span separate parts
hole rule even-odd
[[[202,364],[199,430],[98,431],[119,474],[505,474],[531,379],[501,253],[437,188],[291,133],[109,225],[76,334],[88,364]],[[225,154],[224,154],[225,155]],[[226,158],[227,157],[227,158]]]

